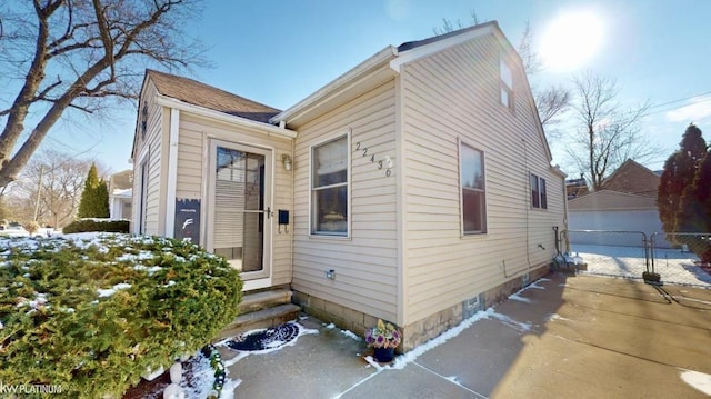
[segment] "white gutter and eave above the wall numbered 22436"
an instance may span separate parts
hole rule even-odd
[[[300,114],[303,110],[314,106],[330,94],[333,94],[339,90],[347,88],[350,83],[357,81],[359,78],[370,72],[372,69],[385,64],[395,57],[398,57],[398,49],[393,46],[385,47],[371,58],[356,66],[353,69],[336,78],[336,80],[326,84],[311,96],[297,102],[294,106],[288,108],[287,110],[276,114],[269,120],[269,122],[274,124],[280,124],[281,122],[288,123],[290,119]]]

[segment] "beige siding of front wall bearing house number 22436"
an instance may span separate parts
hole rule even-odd
[[[298,127],[294,149],[294,259],[296,290],[367,315],[397,318],[397,221],[394,81],[316,120]],[[346,134],[350,129],[349,238],[310,235],[310,148]],[[356,151],[357,143],[361,149]],[[362,150],[368,148],[368,156]],[[371,163],[389,156],[385,167]],[[336,279],[324,277],[336,271]]]

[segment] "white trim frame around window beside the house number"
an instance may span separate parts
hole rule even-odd
[[[309,146],[309,238],[314,238],[314,239],[327,239],[327,240],[350,240],[351,239],[351,232],[352,232],[352,190],[351,190],[351,181],[352,181],[352,176],[351,176],[351,133],[352,133],[352,129],[348,128],[346,129],[346,131],[340,130],[337,133],[333,134],[329,134],[322,138],[322,140],[319,140],[318,142],[313,142],[311,143],[311,146]],[[346,180],[347,180],[347,184],[346,184],[346,189],[348,190],[347,193],[347,200],[348,200],[348,205],[346,206],[346,212],[347,215],[347,225],[346,225],[346,235],[341,235],[341,233],[324,233],[324,232],[317,232],[314,231],[314,226],[313,226],[313,149],[316,147],[320,147],[323,146],[326,143],[328,143],[329,141],[334,141],[338,140],[340,138],[342,138],[343,136],[346,136],[346,146],[347,146],[347,164],[346,164]]]

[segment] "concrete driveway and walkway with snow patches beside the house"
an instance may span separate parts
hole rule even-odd
[[[561,272],[514,298],[395,368],[300,320],[319,333],[229,367],[242,380],[234,398],[707,398],[684,370],[711,390],[711,290]]]

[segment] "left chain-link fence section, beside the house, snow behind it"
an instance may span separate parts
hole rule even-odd
[[[649,267],[649,241],[642,231],[563,230],[564,257],[580,257],[585,273],[642,279]]]

